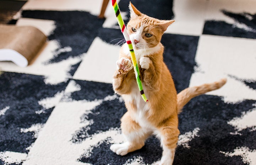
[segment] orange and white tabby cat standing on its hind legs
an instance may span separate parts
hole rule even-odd
[[[121,119],[121,130],[125,137],[122,144],[113,144],[110,149],[118,155],[141,149],[145,140],[156,135],[163,147],[158,165],[171,165],[178,142],[178,114],[193,97],[218,89],[226,79],[218,82],[190,87],[178,95],[173,79],[163,62],[163,45],[160,43],[164,31],[174,21],[158,20],[142,14],[130,3],[130,21],[127,30],[130,35],[138,64],[141,81],[148,102],[141,98],[131,64],[127,44],[120,50],[116,62],[113,88],[125,101],[127,112]]]

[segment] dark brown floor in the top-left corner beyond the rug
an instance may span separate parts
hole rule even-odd
[[[0,0],[0,24],[11,24],[12,17],[25,3],[24,0]]]

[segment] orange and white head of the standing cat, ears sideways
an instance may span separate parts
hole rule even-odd
[[[142,14],[131,2],[129,8],[130,21],[127,30],[135,45],[134,49],[147,49],[158,45],[168,26],[174,22],[174,20],[158,20]]]

